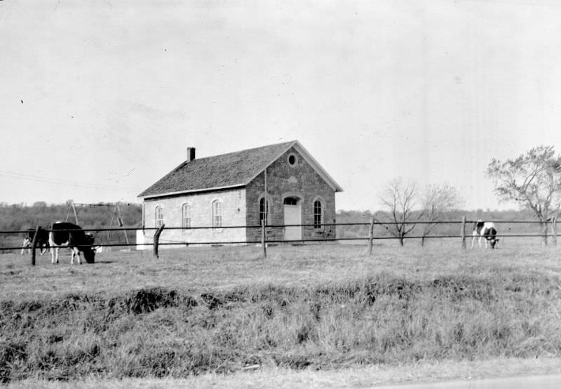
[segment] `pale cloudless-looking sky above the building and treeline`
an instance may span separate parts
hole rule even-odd
[[[559,4],[559,5],[558,5]],[[499,204],[561,152],[561,4],[0,1],[0,202],[138,202],[186,158],[299,140],[376,210],[396,177]]]

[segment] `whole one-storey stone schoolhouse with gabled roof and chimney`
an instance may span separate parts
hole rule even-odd
[[[143,227],[165,224],[162,243],[243,244],[259,242],[261,230],[248,226],[262,220],[269,242],[334,238],[335,192],[342,188],[293,140],[200,159],[189,147],[186,161],[138,197]],[[137,244],[153,236],[139,230]]]

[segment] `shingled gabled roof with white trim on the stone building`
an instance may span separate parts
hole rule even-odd
[[[248,185],[251,180],[257,177],[273,161],[276,161],[290,147],[295,147],[336,192],[342,192],[342,188],[311,157],[309,152],[297,140],[292,140],[276,145],[184,161],[180,166],[156,181],[154,185],[144,190],[138,197],[161,197],[242,187]]]

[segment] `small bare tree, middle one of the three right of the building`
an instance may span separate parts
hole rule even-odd
[[[426,237],[434,230],[445,213],[459,206],[461,197],[455,187],[450,185],[427,185],[421,204],[419,219],[426,222],[423,225],[421,246],[425,245]]]

